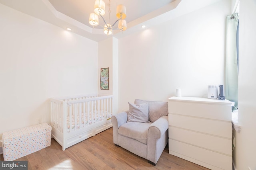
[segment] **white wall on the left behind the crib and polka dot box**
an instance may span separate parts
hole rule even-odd
[[[49,123],[48,99],[98,92],[98,43],[0,4],[0,134]]]

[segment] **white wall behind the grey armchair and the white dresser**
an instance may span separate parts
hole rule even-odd
[[[176,88],[207,97],[208,85],[223,84],[228,14],[230,0],[223,0],[118,39],[119,110],[136,98],[167,101]]]

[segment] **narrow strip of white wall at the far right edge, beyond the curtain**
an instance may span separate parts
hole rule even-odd
[[[238,122],[234,164],[236,170],[256,170],[256,1],[240,0]]]

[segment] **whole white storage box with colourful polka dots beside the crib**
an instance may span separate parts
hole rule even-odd
[[[51,145],[52,127],[41,123],[3,133],[4,160],[15,160]]]

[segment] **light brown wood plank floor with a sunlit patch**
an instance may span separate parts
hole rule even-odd
[[[208,170],[168,154],[168,145],[156,166],[113,143],[113,129],[90,137],[62,151],[52,139],[51,146],[17,160],[28,161],[28,170]],[[0,160],[3,159],[1,154]]]

